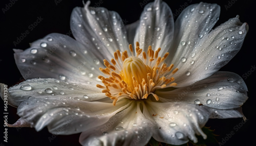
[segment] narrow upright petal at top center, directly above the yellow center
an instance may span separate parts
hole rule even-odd
[[[149,45],[152,46],[154,51],[161,47],[160,56],[170,48],[173,33],[174,19],[172,10],[162,0],[156,0],[147,4],[141,14],[134,45],[138,41],[140,48],[144,49],[144,51],[147,50]]]

